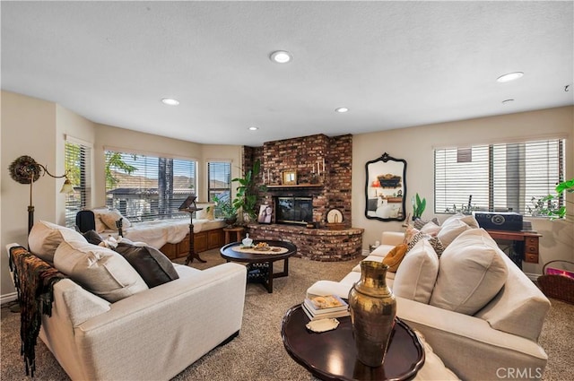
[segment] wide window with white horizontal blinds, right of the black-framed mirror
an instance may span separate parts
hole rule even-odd
[[[519,212],[564,178],[564,141],[437,149],[435,212]],[[563,203],[563,200],[561,200]]]

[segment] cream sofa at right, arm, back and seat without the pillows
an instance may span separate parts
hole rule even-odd
[[[365,260],[381,262],[403,240],[402,232],[383,232],[381,245]],[[396,297],[397,316],[419,330],[461,379],[540,379],[548,357],[537,339],[550,301],[507,255],[500,251],[500,256],[507,265],[508,278],[498,294],[474,315]],[[391,288],[395,275],[387,273]],[[360,278],[358,265],[341,281],[317,281],[308,293],[346,297]]]

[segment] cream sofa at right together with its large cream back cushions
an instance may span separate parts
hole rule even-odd
[[[431,252],[432,248],[429,248],[431,246],[428,241],[423,240],[407,252],[396,273],[387,273],[387,284],[394,291],[401,290],[396,292],[402,295],[396,297],[397,316],[419,330],[445,365],[461,379],[540,379],[548,357],[537,339],[544,324],[544,316],[550,307],[550,301],[517,268],[516,264],[496,247],[485,230],[470,227],[467,229],[471,231],[465,231],[457,237],[450,236],[453,239],[440,258],[433,251],[432,255],[426,256],[418,263],[413,260],[407,261],[412,251]],[[402,232],[383,232],[381,245],[365,260],[383,261],[387,253],[396,245],[403,243],[403,240],[404,233]],[[465,307],[470,307],[466,305],[466,299],[470,298],[459,294],[465,293],[464,282],[473,283],[476,277],[465,273],[466,270],[463,268],[465,264],[456,264],[458,267],[452,270],[453,267],[445,263],[455,256],[463,257],[460,254],[474,253],[478,254],[478,259],[471,264],[474,266],[483,260],[480,250],[484,250],[485,255],[487,252],[490,255],[488,261],[484,262],[484,268],[490,268],[493,263],[491,261],[498,261],[499,273],[495,273],[492,279],[485,278],[485,280],[491,283],[501,281],[501,288],[478,311],[457,312],[459,309],[464,310]],[[416,275],[417,273],[424,273],[429,267],[435,265],[433,255],[437,258],[436,265],[439,266],[436,281],[431,281],[432,284],[428,290],[424,290],[421,284],[415,284],[416,291],[405,290],[404,283],[413,283],[413,278],[420,277]],[[407,267],[404,268],[404,266]],[[507,269],[506,273],[504,267]],[[398,278],[404,278],[404,273],[410,279],[402,280],[398,285]],[[478,275],[479,278],[483,276],[489,275],[485,273]],[[496,277],[498,280],[495,279]],[[341,281],[317,281],[309,288],[308,293],[323,295],[335,293],[346,297],[352,284],[360,278],[361,267],[358,265]],[[463,281],[463,284],[456,285],[457,280]],[[429,281],[426,282],[428,288]],[[439,288],[442,290],[437,290]],[[443,295],[438,294],[444,293],[450,294],[446,299],[451,296],[454,299],[462,298],[460,306],[438,307],[443,306],[441,303],[444,303],[444,300],[439,300],[439,297]],[[416,299],[422,299],[422,301]],[[432,305],[433,303],[435,305]],[[470,308],[474,310],[476,306]]]

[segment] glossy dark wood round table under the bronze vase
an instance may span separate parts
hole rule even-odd
[[[283,317],[281,335],[292,359],[322,380],[405,380],[424,364],[424,348],[413,330],[396,318],[395,329],[382,366],[371,368],[357,359],[351,317],[337,317],[339,326],[314,333],[305,325],[309,317],[300,305]]]

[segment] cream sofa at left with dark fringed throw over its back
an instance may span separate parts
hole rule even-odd
[[[168,380],[239,333],[245,266],[229,263],[200,271],[173,264],[178,279],[148,288],[137,273],[118,272],[127,263],[117,253],[80,242],[82,236],[71,229],[52,230],[40,237],[32,231],[30,250],[57,247],[54,263],[64,261],[72,276],[55,283],[52,315],[42,316],[39,337],[72,379]],[[101,290],[109,279],[81,286],[73,279],[82,266],[99,266],[121,287]]]

